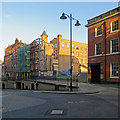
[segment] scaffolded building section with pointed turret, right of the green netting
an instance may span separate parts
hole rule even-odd
[[[51,59],[53,45],[48,43],[48,35],[45,30],[39,40],[34,40],[30,44],[30,67],[32,76],[37,76],[38,71],[52,70]]]

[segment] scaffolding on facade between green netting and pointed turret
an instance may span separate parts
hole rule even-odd
[[[42,38],[37,38],[30,44],[30,65],[31,75],[33,77],[39,76],[41,71],[50,70],[47,68],[48,59],[46,54],[46,44],[47,42]]]

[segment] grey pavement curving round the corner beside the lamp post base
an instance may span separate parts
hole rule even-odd
[[[118,88],[118,84],[92,84],[92,83],[78,83],[78,90],[77,91],[35,91],[35,92],[41,92],[41,93],[56,93],[56,94],[94,94],[99,93],[104,90],[104,87],[112,87],[112,88]]]

